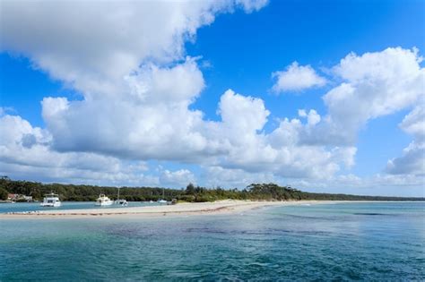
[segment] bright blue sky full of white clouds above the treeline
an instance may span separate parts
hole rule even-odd
[[[423,197],[424,11],[0,0],[0,174]]]

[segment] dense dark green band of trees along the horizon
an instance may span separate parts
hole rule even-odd
[[[48,192],[56,192],[62,201],[95,201],[100,193],[111,199],[117,199],[117,187],[73,184],[41,184],[29,181],[14,181],[3,176],[0,178],[0,200],[7,199],[7,193],[19,193],[42,200]],[[164,197],[162,197],[162,193]],[[424,198],[402,198],[381,196],[359,196],[348,194],[330,194],[302,192],[291,187],[277,184],[250,184],[246,189],[207,189],[188,184],[186,189],[167,189],[160,187],[122,187],[120,198],[127,201],[157,201],[161,198],[170,201],[217,201],[217,200],[264,200],[264,201],[299,201],[299,200],[351,200],[351,201],[424,201]]]

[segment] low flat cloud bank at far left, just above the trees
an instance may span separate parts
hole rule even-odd
[[[159,184],[158,177],[145,175],[147,167],[141,161],[50,150],[51,135],[20,116],[0,117],[0,135],[0,171],[4,175],[49,182]]]

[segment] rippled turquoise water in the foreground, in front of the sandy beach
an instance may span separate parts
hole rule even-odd
[[[0,280],[425,279],[425,203],[0,221]]]

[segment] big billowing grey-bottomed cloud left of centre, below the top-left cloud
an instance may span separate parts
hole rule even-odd
[[[200,132],[203,114],[188,109],[204,88],[194,60],[174,67],[143,68],[127,79],[131,83],[126,97],[44,98],[43,117],[55,149],[159,159],[218,150],[208,146]]]

